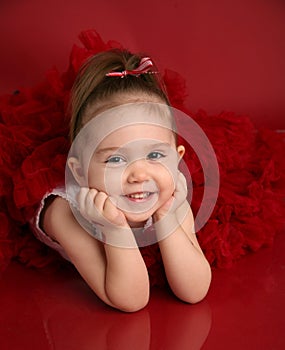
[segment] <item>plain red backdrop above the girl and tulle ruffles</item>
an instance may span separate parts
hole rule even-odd
[[[285,1],[1,0],[0,93],[65,70],[89,28],[183,75],[191,110],[285,129]]]

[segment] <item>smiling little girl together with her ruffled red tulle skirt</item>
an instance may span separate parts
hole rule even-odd
[[[164,285],[165,275],[179,298],[196,302],[210,284],[207,261],[229,268],[284,232],[284,136],[232,112],[187,111],[219,165],[218,199],[201,228],[201,199],[207,189],[205,198],[213,195],[205,173],[213,157],[203,169],[207,152],[197,157],[184,142],[193,140],[191,118],[178,120],[184,140],[176,139],[169,100],[187,110],[185,81],[165,70],[166,94],[148,58],[94,30],[79,38],[83,47],[73,47],[63,74],[52,69],[40,84],[0,96],[0,273],[12,259],[58,267],[62,259],[50,246],[113,307],[142,308],[149,284]],[[73,88],[69,130],[70,90],[91,56]],[[191,174],[188,198],[207,261],[178,164]]]

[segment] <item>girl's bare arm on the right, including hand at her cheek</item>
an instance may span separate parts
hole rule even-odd
[[[180,173],[173,197],[154,214],[168,283],[183,301],[196,303],[208,292],[211,269],[194,233],[194,218],[186,200],[187,183]],[[171,231],[170,231],[171,232]]]

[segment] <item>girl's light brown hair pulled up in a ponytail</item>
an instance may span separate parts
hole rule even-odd
[[[95,103],[110,107],[110,100],[120,93],[144,93],[155,95],[169,105],[166,89],[159,74],[128,75],[108,77],[112,71],[137,68],[144,55],[132,54],[127,50],[113,49],[89,58],[80,68],[71,91],[70,138],[73,141],[84,125],[87,108]],[[155,66],[153,71],[157,72]],[[114,105],[112,105],[114,107]]]

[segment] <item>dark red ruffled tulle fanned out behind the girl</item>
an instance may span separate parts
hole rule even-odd
[[[103,42],[95,31],[81,33],[69,67],[50,70],[34,88],[0,97],[0,266],[11,259],[36,268],[64,264],[58,254],[29,230],[46,192],[64,183],[68,139],[69,93],[82,62],[97,52],[121,47]],[[174,107],[183,105],[185,81],[166,70],[164,81]],[[245,116],[223,112],[191,114],[215,150],[220,169],[219,197],[207,224],[198,232],[201,247],[216,267],[229,267],[249,252],[270,246],[284,230],[284,137],[256,130]],[[185,145],[189,147],[188,145]],[[186,152],[193,182],[191,206],[197,213],[203,193],[203,171],[193,152]],[[157,245],[142,248],[152,285],[165,283]]]

